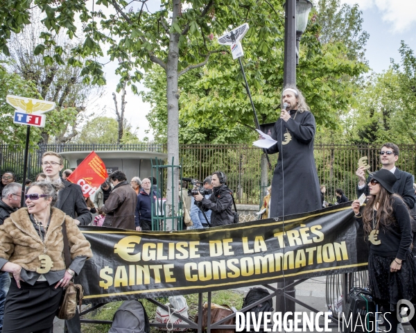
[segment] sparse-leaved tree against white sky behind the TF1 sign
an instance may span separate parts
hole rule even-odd
[[[67,142],[77,134],[78,123],[85,121],[87,102],[91,101],[92,96],[98,98],[101,89],[83,83],[81,69],[76,66],[80,57],[70,57],[65,51],[79,44],[79,41],[70,41],[63,33],[47,32],[41,23],[40,10],[36,8],[31,10],[31,19],[32,24],[10,37],[8,68],[35,83],[42,99],[56,103],[55,111],[50,112],[50,123],[60,128],[60,133],[55,131],[57,135],[54,142]],[[42,39],[45,40],[44,44],[39,44]],[[69,60],[72,61],[71,65],[67,65]],[[46,128],[42,132],[42,143],[50,141],[47,133]]]

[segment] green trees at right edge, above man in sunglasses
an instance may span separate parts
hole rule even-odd
[[[401,65],[372,74],[358,94],[358,108],[345,121],[349,140],[357,143],[416,143],[416,57],[404,42]]]

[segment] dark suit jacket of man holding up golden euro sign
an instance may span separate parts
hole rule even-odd
[[[401,171],[399,168],[396,168],[395,176],[397,178],[395,185],[393,185],[393,191],[395,194],[399,194],[401,198],[403,198],[404,202],[411,210],[415,206],[416,198],[415,198],[415,190],[413,189],[413,176],[406,172]],[[370,190],[368,189],[368,183],[371,180],[371,176],[368,176],[367,182],[365,183],[365,187],[362,189],[358,189],[357,186],[357,197],[359,198],[361,194],[365,194],[365,196],[370,195]]]

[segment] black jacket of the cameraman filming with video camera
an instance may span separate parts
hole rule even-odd
[[[214,193],[202,201],[195,201],[195,204],[204,212],[211,210],[211,225],[226,225],[234,223],[234,214],[232,212],[232,191],[227,185],[214,187]]]

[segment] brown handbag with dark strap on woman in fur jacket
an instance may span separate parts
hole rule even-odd
[[[67,225],[62,223],[62,235],[64,238],[64,258],[65,266],[68,268],[71,263],[71,255],[69,255],[69,244],[67,236]],[[76,314],[76,305],[80,306],[83,303],[84,289],[80,284],[74,284],[72,281],[69,282],[68,287],[64,289],[62,298],[56,316],[60,319],[69,320]]]

